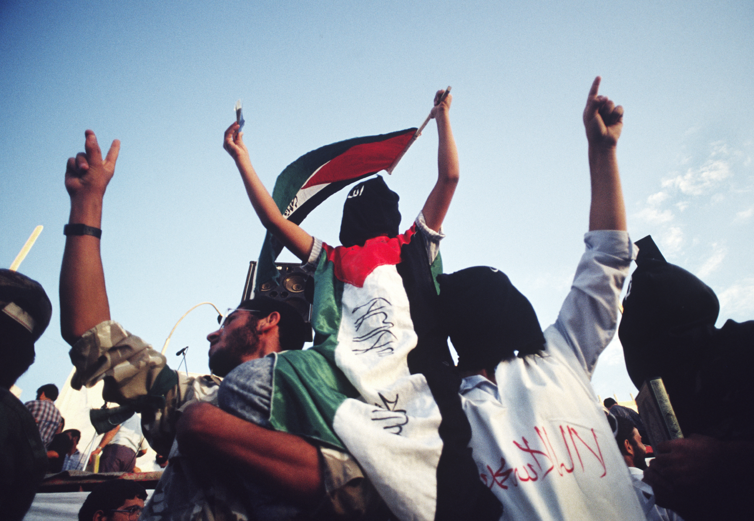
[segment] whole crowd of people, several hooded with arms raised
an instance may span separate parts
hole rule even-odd
[[[599,95],[599,83],[583,113],[591,179],[585,252],[546,329],[497,268],[437,274],[460,176],[447,93],[436,94],[431,112],[437,183],[415,222],[401,233],[398,195],[382,177],[367,179],[348,193],[337,247],[280,213],[239,124],[231,124],[223,146],[254,210],[314,277],[314,346],[302,349],[310,330],[298,311],[256,296],[207,336],[211,374],[199,377],[170,369],[110,316],[100,228],[120,143],[103,158],[87,130],[85,152],[69,158],[65,178],[71,212],[60,325],[72,346],[71,385],[104,379],[103,397],[119,404],[98,413],[103,424],[118,424],[95,449],[112,459],[107,470],[133,470],[142,432],[167,466],[146,504],[143,489],[116,480],[90,494],[79,519],[745,515],[754,415],[744,371],[754,323],[716,329],[712,290],[629,238],[616,155],[623,109]],[[664,378],[685,434],[655,444],[649,466],[642,418],[615,400],[603,406],[590,383],[618,329],[634,260],[619,333],[627,369],[637,387]],[[487,288],[483,300],[478,287]],[[40,388],[26,408],[8,392],[49,323],[44,290],[2,270],[0,308],[0,413],[8,418],[0,509],[22,519],[46,469],[80,467],[81,433],[63,431],[54,386]]]

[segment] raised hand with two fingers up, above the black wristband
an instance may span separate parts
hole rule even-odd
[[[84,150],[78,152],[75,158],[69,158],[66,164],[66,190],[71,198],[83,195],[105,194],[107,184],[115,173],[115,161],[121,150],[121,142],[115,139],[103,161],[97,136],[92,130],[84,132],[86,141]]]

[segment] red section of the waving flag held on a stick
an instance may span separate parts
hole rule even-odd
[[[393,164],[400,152],[403,152],[414,132],[411,130],[401,136],[385,139],[385,141],[352,146],[325,164],[301,189],[329,182],[345,181],[365,173],[385,170]]]

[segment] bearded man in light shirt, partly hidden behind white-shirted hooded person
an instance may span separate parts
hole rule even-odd
[[[609,418],[608,418],[609,421]],[[633,490],[636,492],[636,498],[642,505],[644,515],[648,521],[683,521],[682,517],[673,510],[667,510],[654,504],[654,492],[648,483],[644,482],[644,471],[647,468],[647,449],[642,443],[642,437],[639,430],[627,418],[621,416],[614,417],[615,421],[615,442],[618,443],[618,450],[621,451],[628,471],[631,473]]]

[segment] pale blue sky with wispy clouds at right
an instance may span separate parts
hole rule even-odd
[[[121,156],[105,200],[112,316],[160,346],[209,300],[238,304],[263,239],[222,132],[244,100],[245,140],[268,187],[299,155],[416,126],[452,85],[461,184],[446,218],[446,271],[493,265],[542,326],[569,290],[587,229],[581,111],[594,76],[624,106],[618,159],[630,233],[718,293],[722,321],[754,317],[754,5],[751,2],[3,2],[0,6],[0,265],[35,225],[20,271],[54,303],[22,398],[71,366],[57,277],[66,159],[84,130]],[[403,225],[437,175],[433,124],[391,185]],[[335,195],[303,223],[337,244]],[[284,253],[280,258],[293,260]],[[208,306],[176,330],[207,369]],[[617,340],[593,379],[635,389]]]

